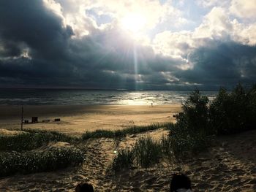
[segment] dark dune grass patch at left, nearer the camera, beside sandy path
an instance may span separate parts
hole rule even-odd
[[[84,161],[84,153],[75,147],[53,148],[48,151],[0,153],[0,177],[15,173],[49,172],[77,165]]]

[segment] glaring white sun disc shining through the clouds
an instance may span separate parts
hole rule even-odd
[[[124,18],[121,19],[122,28],[132,32],[133,34],[137,34],[140,31],[143,31],[146,25],[146,18],[143,15],[131,13],[125,15]]]

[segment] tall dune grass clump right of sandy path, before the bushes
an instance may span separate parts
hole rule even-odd
[[[192,154],[207,149],[208,139],[202,139],[199,136],[185,136],[184,133],[181,133],[184,130],[177,130],[175,137],[169,135],[160,140],[140,137],[133,147],[118,150],[110,165],[110,171],[116,173],[133,166],[149,168],[158,164],[161,159],[182,161]],[[172,133],[174,133],[173,129]]]

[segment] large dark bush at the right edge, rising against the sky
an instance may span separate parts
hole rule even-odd
[[[255,128],[256,86],[246,90],[238,84],[231,93],[220,88],[209,112],[217,134],[236,134]]]

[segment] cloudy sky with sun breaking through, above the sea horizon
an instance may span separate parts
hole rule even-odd
[[[256,0],[0,1],[0,87],[253,83],[255,12]]]

